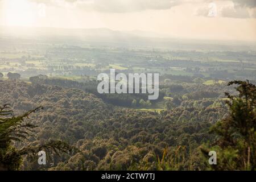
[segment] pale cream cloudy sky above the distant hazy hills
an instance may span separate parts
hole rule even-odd
[[[256,42],[256,0],[0,0],[0,25]]]

